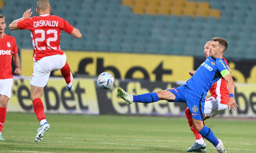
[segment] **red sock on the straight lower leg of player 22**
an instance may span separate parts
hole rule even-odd
[[[35,115],[37,115],[37,118],[39,121],[45,118],[45,112],[44,112],[44,105],[43,102],[40,98],[36,98],[33,100],[33,107],[34,107],[34,112]]]

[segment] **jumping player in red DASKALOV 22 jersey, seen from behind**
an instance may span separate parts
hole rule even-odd
[[[66,81],[67,90],[72,90],[73,76],[66,62],[67,56],[60,48],[61,30],[75,38],[81,38],[82,34],[61,17],[50,15],[51,7],[48,0],[39,0],[36,10],[39,16],[30,17],[32,12],[29,9],[23,14],[22,18],[14,20],[9,25],[9,28],[10,30],[27,29],[31,31],[34,47],[33,60],[35,63],[30,79],[30,98],[41,125],[37,129],[37,135],[35,136],[35,142],[39,142],[42,140],[44,132],[50,128],[46,121],[44,105],[40,98],[48,82],[50,72],[60,70]]]

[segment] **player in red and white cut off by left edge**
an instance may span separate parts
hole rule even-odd
[[[6,27],[5,17],[0,15],[0,140],[6,117],[6,109],[12,92],[12,57],[16,69],[15,74],[20,74],[20,60],[16,40],[14,37],[4,34]]]

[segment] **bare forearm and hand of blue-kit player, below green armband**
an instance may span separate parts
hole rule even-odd
[[[238,105],[234,99],[234,93],[235,93],[235,83],[233,81],[233,78],[230,74],[222,75],[223,78],[226,80],[227,85],[229,86],[229,103],[227,103],[227,106],[230,108],[232,107],[234,110],[237,109]],[[236,108],[236,109],[235,109]]]

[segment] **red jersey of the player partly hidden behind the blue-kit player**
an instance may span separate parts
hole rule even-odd
[[[223,59],[227,64],[227,60],[225,58]],[[214,97],[218,102],[227,105],[229,102],[229,86],[223,77],[212,85],[210,94],[211,97]]]

